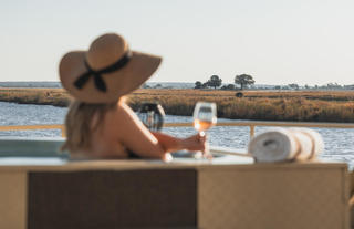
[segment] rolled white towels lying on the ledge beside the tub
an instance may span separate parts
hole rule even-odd
[[[311,160],[324,149],[321,135],[310,128],[274,128],[253,137],[248,152],[256,162]]]

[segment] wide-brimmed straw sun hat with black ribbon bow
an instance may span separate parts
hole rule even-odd
[[[59,66],[64,89],[86,103],[110,103],[138,89],[158,67],[162,58],[131,51],[118,34],[94,40],[88,51],[66,53]]]

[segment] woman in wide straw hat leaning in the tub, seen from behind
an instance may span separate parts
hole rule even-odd
[[[73,157],[162,158],[169,152],[205,152],[199,134],[176,138],[150,133],[125,104],[124,95],[138,89],[158,67],[156,55],[131,51],[118,34],[104,34],[88,51],[73,51],[60,63],[64,89],[76,100],[65,119],[66,143]]]

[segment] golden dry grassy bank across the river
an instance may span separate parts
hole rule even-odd
[[[259,121],[354,122],[352,91],[235,91],[137,90],[128,104],[137,110],[144,102],[158,102],[166,114],[190,116],[198,101],[217,103],[218,117]],[[0,101],[20,104],[67,106],[70,95],[62,89],[0,89]]]

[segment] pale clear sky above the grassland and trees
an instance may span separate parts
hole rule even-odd
[[[101,34],[163,56],[150,82],[354,84],[353,0],[1,0],[0,81],[59,81]]]

